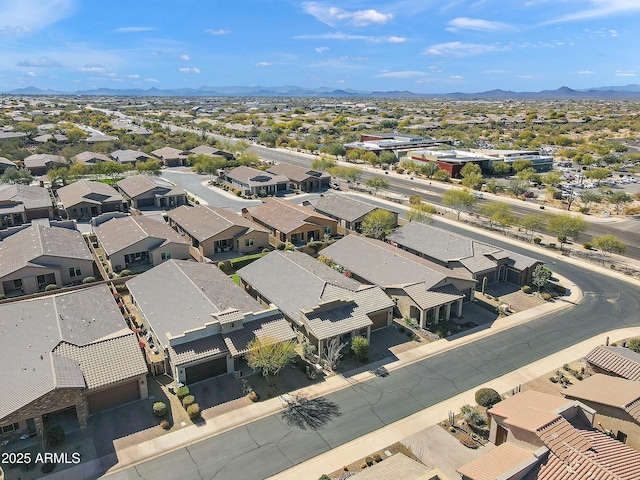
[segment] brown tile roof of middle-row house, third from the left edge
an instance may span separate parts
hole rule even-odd
[[[245,232],[255,230],[267,233],[267,230],[260,225],[226,208],[209,205],[196,205],[195,207],[183,205],[170,210],[167,215],[199,242],[236,226],[245,229]]]

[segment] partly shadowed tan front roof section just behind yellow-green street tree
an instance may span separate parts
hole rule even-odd
[[[296,333],[280,312],[244,322],[242,328],[222,333],[227,349],[232,357],[247,352],[247,345],[254,338],[273,338],[281,342],[296,339]]]

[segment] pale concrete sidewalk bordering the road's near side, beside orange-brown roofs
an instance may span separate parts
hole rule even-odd
[[[484,385],[479,385],[473,390],[449,398],[422,412],[406,417],[387,427],[381,428],[357,440],[334,448],[327,453],[307,460],[295,467],[277,475],[269,477],[269,480],[299,480],[300,478],[319,478],[323,473],[331,473],[339,470],[343,465],[348,465],[360,458],[366,457],[371,452],[381,450],[393,443],[403,441],[426,428],[436,425],[447,418],[448,412],[457,412],[463,405],[475,403],[475,392],[478,388],[490,387],[498,392],[505,392],[540,376],[541,373],[550,372],[559,366],[570,363],[573,360],[584,357],[594,347],[603,345],[606,339],[618,341],[624,338],[640,335],[640,327],[614,330],[597,335],[577,345],[566,348],[554,355],[549,355],[526,367],[510,372]]]

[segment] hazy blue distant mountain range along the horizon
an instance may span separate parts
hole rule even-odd
[[[293,85],[282,87],[200,87],[158,89],[155,87],[144,89],[112,89],[97,88],[93,90],[78,90],[62,92],[58,90],[42,90],[37,87],[26,87],[4,92],[8,95],[93,95],[113,97],[344,97],[344,98],[452,98],[459,100],[473,99],[640,99],[640,85],[624,85],[611,87],[595,87],[587,90],[574,90],[560,87],[557,90],[543,90],[540,92],[513,92],[509,90],[489,90],[478,93],[414,93],[403,91],[362,91],[336,90],[329,87],[305,88]]]

